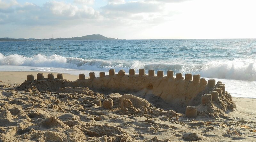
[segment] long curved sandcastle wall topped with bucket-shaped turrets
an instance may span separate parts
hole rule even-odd
[[[146,75],[145,69],[139,69],[139,74],[130,69],[129,75],[126,75],[124,70],[116,74],[114,69],[110,69],[109,75],[100,72],[100,77],[95,77],[92,72],[89,79],[85,79],[84,74],[80,74],[78,78],[70,82],[62,74],[58,74],[57,78],[48,74],[46,79],[39,73],[37,80],[34,80],[33,75],[28,75],[27,81],[20,86],[36,86],[39,91],[51,92],[57,91],[56,88],[88,87],[94,91],[131,93],[162,108],[186,113],[187,117],[206,114],[211,117],[226,117],[225,114],[236,107],[231,95],[225,91],[225,84],[216,84],[214,79],[206,81],[200,75],[186,74],[184,79],[181,73],[177,73],[174,78],[173,71],[167,71],[167,76],[164,76],[163,71],[157,71],[155,76],[154,70],[149,70]]]

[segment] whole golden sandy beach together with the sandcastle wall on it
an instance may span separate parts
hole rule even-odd
[[[0,72],[0,141],[256,141],[256,99],[232,98],[220,82],[37,74]]]

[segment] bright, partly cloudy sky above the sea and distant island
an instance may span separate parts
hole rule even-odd
[[[256,38],[255,0],[0,0],[0,37]]]

